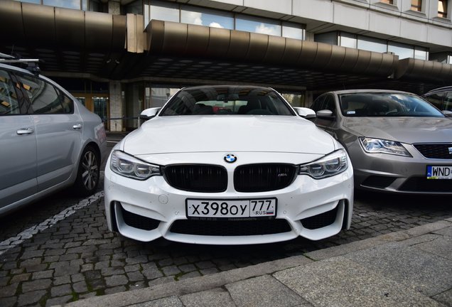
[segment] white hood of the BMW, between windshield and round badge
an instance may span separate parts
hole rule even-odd
[[[328,154],[335,141],[312,122],[291,116],[155,117],[124,139],[132,155],[195,152]]]

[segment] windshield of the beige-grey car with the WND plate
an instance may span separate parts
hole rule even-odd
[[[403,93],[352,93],[339,95],[345,117],[444,117],[416,95]]]

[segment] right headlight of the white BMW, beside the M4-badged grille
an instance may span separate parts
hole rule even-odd
[[[331,154],[298,168],[298,175],[308,175],[314,179],[335,176],[348,168],[347,153],[344,149],[333,151]]]

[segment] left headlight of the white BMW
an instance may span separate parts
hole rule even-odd
[[[161,175],[160,167],[141,161],[123,151],[113,151],[110,168],[121,176],[146,180],[151,176]]]

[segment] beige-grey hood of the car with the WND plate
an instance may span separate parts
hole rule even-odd
[[[357,136],[407,144],[452,141],[452,121],[441,117],[354,117],[345,119],[343,126]]]

